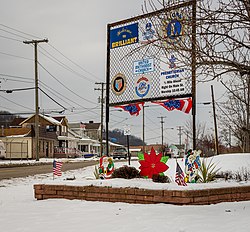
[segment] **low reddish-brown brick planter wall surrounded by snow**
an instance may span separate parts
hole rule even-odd
[[[37,200],[64,198],[70,200],[176,205],[208,205],[250,200],[250,186],[181,191],[37,184],[34,185],[34,190]]]

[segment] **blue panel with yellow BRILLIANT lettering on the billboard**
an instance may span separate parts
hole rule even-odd
[[[138,43],[138,23],[115,28],[110,31],[110,48]]]

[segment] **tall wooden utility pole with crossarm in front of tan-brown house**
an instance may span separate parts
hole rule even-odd
[[[38,43],[48,43],[48,39],[23,41],[25,44],[34,44],[35,48],[35,144],[36,144],[36,161],[39,161],[39,102],[38,102],[38,61],[37,45]]]

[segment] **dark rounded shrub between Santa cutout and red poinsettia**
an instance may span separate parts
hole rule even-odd
[[[129,167],[125,165],[123,167],[115,169],[112,173],[111,178],[133,179],[140,177],[140,172],[135,167]]]

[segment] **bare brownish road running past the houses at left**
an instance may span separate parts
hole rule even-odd
[[[94,160],[64,163],[62,166],[62,171],[64,172],[68,170],[84,168],[97,163],[98,161]],[[52,173],[52,169],[52,163],[25,167],[0,167],[0,180]]]

